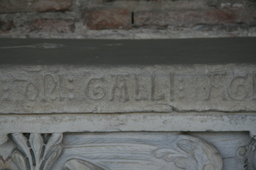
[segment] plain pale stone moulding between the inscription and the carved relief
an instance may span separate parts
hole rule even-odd
[[[256,115],[251,113],[173,112],[126,114],[2,114],[4,138],[10,133],[63,132],[238,132],[256,139]],[[0,143],[1,144],[1,143]]]

